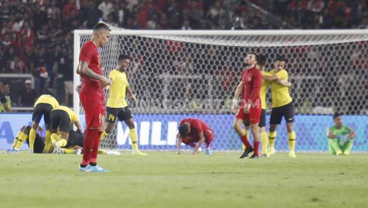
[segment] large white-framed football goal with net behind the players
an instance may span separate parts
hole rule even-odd
[[[79,49],[91,34],[91,30],[75,30],[75,70]],[[140,149],[176,149],[179,122],[188,117],[203,119],[214,130],[211,149],[241,149],[232,127],[231,98],[244,69],[244,55],[255,52],[266,56],[267,71],[273,69],[277,55],[288,59],[289,91],[296,109],[296,150],[326,151],[325,132],[333,125],[331,114],[341,112],[349,115],[344,124],[358,133],[353,150],[368,151],[367,41],[367,30],[112,30],[100,55],[106,77],[117,67],[119,54],[132,58],[127,74],[138,102],[127,98]],[[74,85],[79,82],[75,74]],[[268,106],[271,103],[269,91]],[[77,93],[74,107],[83,121]],[[285,121],[277,131],[276,149],[288,149]],[[118,122],[101,146],[131,149],[125,123]]]

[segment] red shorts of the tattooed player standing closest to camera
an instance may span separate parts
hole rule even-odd
[[[80,93],[79,99],[85,112],[86,128],[101,127],[105,116],[104,97]]]

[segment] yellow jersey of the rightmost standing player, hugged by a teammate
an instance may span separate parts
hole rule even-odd
[[[269,72],[271,75],[277,75],[279,79],[288,81],[288,72],[282,69],[275,73],[275,70]],[[289,93],[289,87],[282,86],[275,82],[271,82],[272,108],[281,107],[291,103],[292,98]]]

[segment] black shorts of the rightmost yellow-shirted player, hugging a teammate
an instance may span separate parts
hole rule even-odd
[[[287,123],[294,122],[294,102],[290,102],[287,105],[272,108],[271,117],[269,119],[270,124],[280,124],[283,117],[285,117],[285,120]]]

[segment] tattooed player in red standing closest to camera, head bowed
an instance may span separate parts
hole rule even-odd
[[[92,38],[80,49],[77,73],[82,77],[79,99],[85,112],[83,158],[79,171],[108,172],[97,165],[97,154],[101,134],[105,129],[105,93],[109,81],[102,75],[101,58],[98,48],[105,47],[110,38],[110,29],[103,23],[93,28]]]

